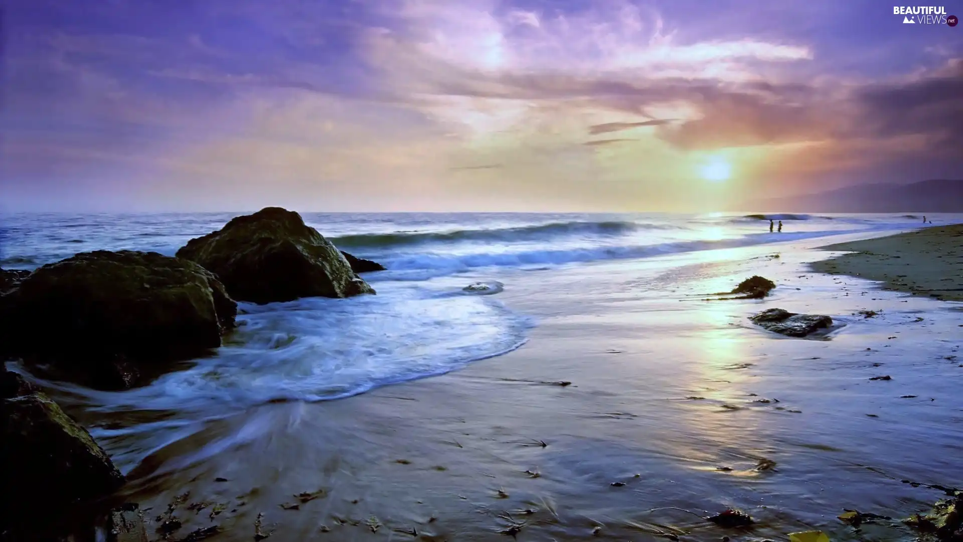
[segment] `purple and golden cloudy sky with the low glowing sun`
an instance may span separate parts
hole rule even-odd
[[[0,6],[6,210],[710,211],[963,178],[963,25],[882,0]]]

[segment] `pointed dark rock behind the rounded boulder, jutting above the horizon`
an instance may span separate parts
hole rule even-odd
[[[375,293],[318,230],[280,207],[233,218],[221,230],[191,239],[177,257],[217,273],[237,300],[263,304]]]

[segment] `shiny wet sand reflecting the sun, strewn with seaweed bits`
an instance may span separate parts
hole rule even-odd
[[[814,274],[817,243],[446,279],[505,283],[498,299],[537,320],[529,342],[346,399],[196,420],[166,446],[123,428],[182,414],[58,399],[128,474],[117,498],[141,503],[151,540],[215,526],[214,542],[908,536],[836,516],[907,517],[941,496],[903,479],[963,485],[961,312]],[[699,298],[753,274],[776,282],[770,297]],[[747,321],[772,307],[837,327],[786,339]],[[730,506],[756,524],[705,519]]]

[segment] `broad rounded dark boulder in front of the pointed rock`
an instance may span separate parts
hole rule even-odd
[[[209,271],[157,253],[82,253],[0,298],[4,353],[89,374],[127,373],[221,345],[237,304]]]

